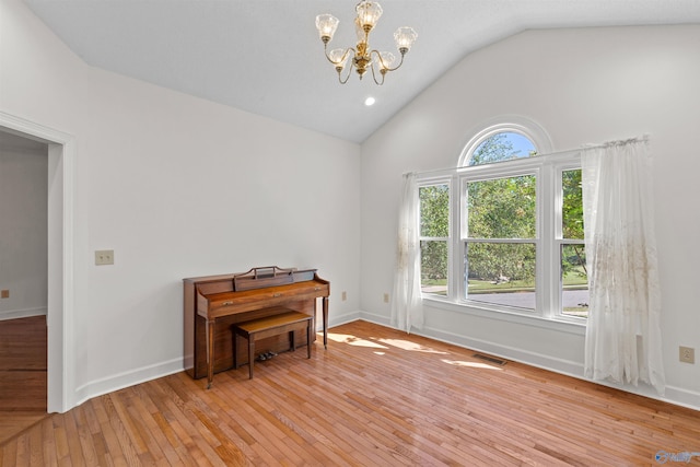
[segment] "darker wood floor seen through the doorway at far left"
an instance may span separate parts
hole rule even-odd
[[[46,316],[0,320],[0,444],[46,416]]]

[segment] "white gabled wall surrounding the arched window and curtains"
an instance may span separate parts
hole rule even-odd
[[[698,44],[695,25],[529,31],[464,58],[363,144],[363,316],[389,319],[382,296],[393,285],[402,173],[456,166],[474,129],[506,114],[539,122],[556,151],[649,133],[666,397],[700,407],[700,364],[678,362],[678,346],[700,351]],[[425,324],[429,336],[583,373],[582,327],[434,306]]]

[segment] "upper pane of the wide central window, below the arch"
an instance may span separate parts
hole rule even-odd
[[[535,238],[535,175],[467,184],[469,238]]]

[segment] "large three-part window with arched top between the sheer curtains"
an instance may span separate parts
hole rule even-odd
[[[419,176],[424,299],[576,320],[587,314],[581,165],[523,132],[477,141],[456,171]]]

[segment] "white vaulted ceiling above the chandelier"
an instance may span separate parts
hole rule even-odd
[[[700,0],[381,0],[370,45],[394,51],[407,25],[418,40],[383,86],[340,85],[314,21],[334,14],[329,48],[353,46],[357,0],[25,1],[91,66],[354,142],[469,52],[524,30],[700,23]]]

